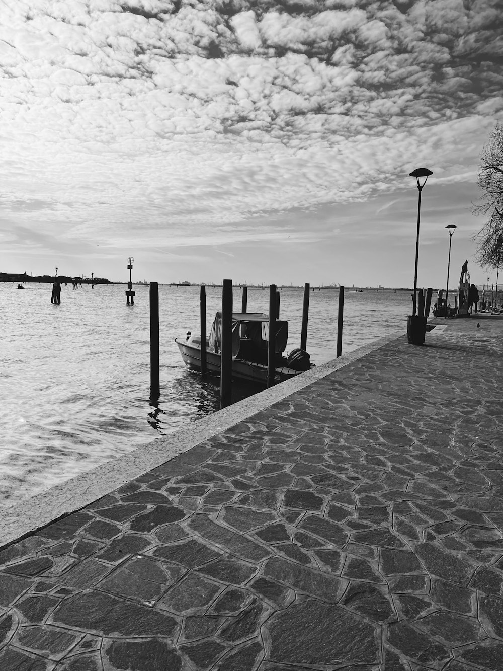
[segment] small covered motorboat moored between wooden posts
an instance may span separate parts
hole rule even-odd
[[[220,374],[222,314],[217,312],[206,342],[208,372]],[[269,317],[257,312],[234,312],[232,315],[232,374],[241,380],[267,384]],[[284,356],[288,341],[288,321],[276,319],[276,360],[274,381],[284,382],[313,368],[304,350],[296,349]],[[201,370],[201,335],[187,331],[185,338],[175,338],[182,359],[189,370]]]

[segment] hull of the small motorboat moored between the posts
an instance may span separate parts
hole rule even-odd
[[[201,348],[191,344],[184,338],[175,338],[174,342],[178,345],[184,364],[190,370],[201,370]],[[220,354],[215,352],[206,352],[206,367],[209,372],[220,374]],[[282,366],[274,370],[274,382],[284,382],[300,374],[300,370]],[[232,374],[241,380],[249,382],[258,382],[267,384],[267,366],[256,364],[244,359],[234,359],[232,362]]]

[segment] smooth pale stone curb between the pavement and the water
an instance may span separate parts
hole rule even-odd
[[[190,450],[215,433],[225,431],[247,417],[255,415],[403,335],[404,331],[394,331],[338,359],[333,359],[291,380],[265,389],[213,415],[199,419],[196,423],[170,433],[166,437],[157,438],[141,448],[108,460],[45,492],[3,509],[0,521],[0,550],[13,541],[20,540],[57,519],[84,508],[126,482]]]

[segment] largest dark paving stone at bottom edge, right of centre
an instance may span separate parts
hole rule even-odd
[[[298,668],[299,664],[327,667],[379,661],[374,627],[339,606],[309,599],[274,613],[265,628],[271,639],[272,662],[291,662]]]

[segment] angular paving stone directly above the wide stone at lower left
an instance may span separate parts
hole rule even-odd
[[[184,569],[174,564],[156,562],[140,557],[121,564],[110,576],[99,582],[99,589],[105,592],[138,599],[155,601],[168,587],[180,579]]]

